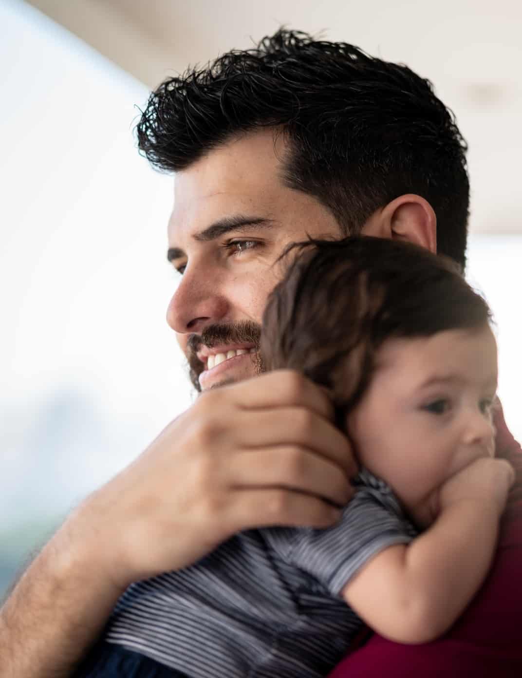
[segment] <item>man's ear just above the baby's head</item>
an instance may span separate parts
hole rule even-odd
[[[376,210],[364,224],[362,235],[406,240],[437,253],[437,217],[427,200],[408,193]]]

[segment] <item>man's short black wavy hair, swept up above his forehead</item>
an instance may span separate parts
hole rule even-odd
[[[176,172],[267,126],[289,144],[283,182],[328,207],[342,235],[416,193],[437,215],[439,252],[464,266],[466,144],[428,80],[353,45],[281,29],[159,85],[137,125],[138,146]]]

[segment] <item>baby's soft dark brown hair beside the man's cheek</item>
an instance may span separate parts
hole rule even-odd
[[[351,236],[294,243],[284,279],[268,298],[261,354],[332,389],[341,415],[361,399],[388,338],[479,330],[485,300],[449,258],[411,243]]]

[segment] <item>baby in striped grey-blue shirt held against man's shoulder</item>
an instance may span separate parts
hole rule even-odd
[[[270,296],[262,355],[332,394],[361,462],[355,497],[326,530],[241,532],[133,584],[77,675],[319,678],[363,624],[401,643],[435,639],[483,582],[513,483],[492,458],[487,304],[413,245],[299,250]],[[140,658],[157,669],[140,673]]]

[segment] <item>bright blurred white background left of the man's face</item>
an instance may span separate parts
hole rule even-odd
[[[165,323],[172,180],[132,136],[147,88],[30,5],[0,3],[0,27],[1,590],[190,388]]]

